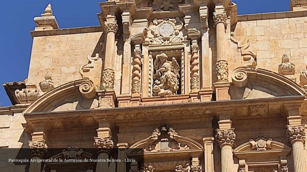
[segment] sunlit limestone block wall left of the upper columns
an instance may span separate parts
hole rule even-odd
[[[68,81],[81,79],[80,67],[88,63],[87,56],[93,56],[102,32],[78,33],[33,37],[33,47],[29,66],[29,75],[35,75],[35,84],[44,80],[51,71],[54,86]],[[101,69],[101,61],[100,67]],[[100,71],[100,70],[97,70]],[[100,73],[95,76],[99,83]]]

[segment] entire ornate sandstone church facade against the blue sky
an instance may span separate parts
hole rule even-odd
[[[307,172],[307,1],[289,3],[106,1],[83,28],[60,28],[49,4],[0,107],[0,147],[33,162],[2,153],[0,171]],[[110,161],[37,161],[93,157]]]

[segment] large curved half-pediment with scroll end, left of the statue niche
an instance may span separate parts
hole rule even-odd
[[[90,109],[95,99],[87,99],[80,93],[80,85],[84,83],[88,84],[89,80],[74,80],[60,85],[35,100],[24,113]]]

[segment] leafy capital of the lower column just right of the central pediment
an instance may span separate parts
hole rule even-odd
[[[229,144],[231,147],[235,144],[235,129],[216,129],[216,140],[220,147]]]

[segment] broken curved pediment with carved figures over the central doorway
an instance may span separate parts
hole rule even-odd
[[[135,144],[131,145],[127,151],[129,153],[136,153],[136,148],[144,148],[144,152],[175,152],[175,151],[189,151],[202,150],[203,146],[193,139],[180,136],[178,133],[166,124],[154,129],[153,133]]]

